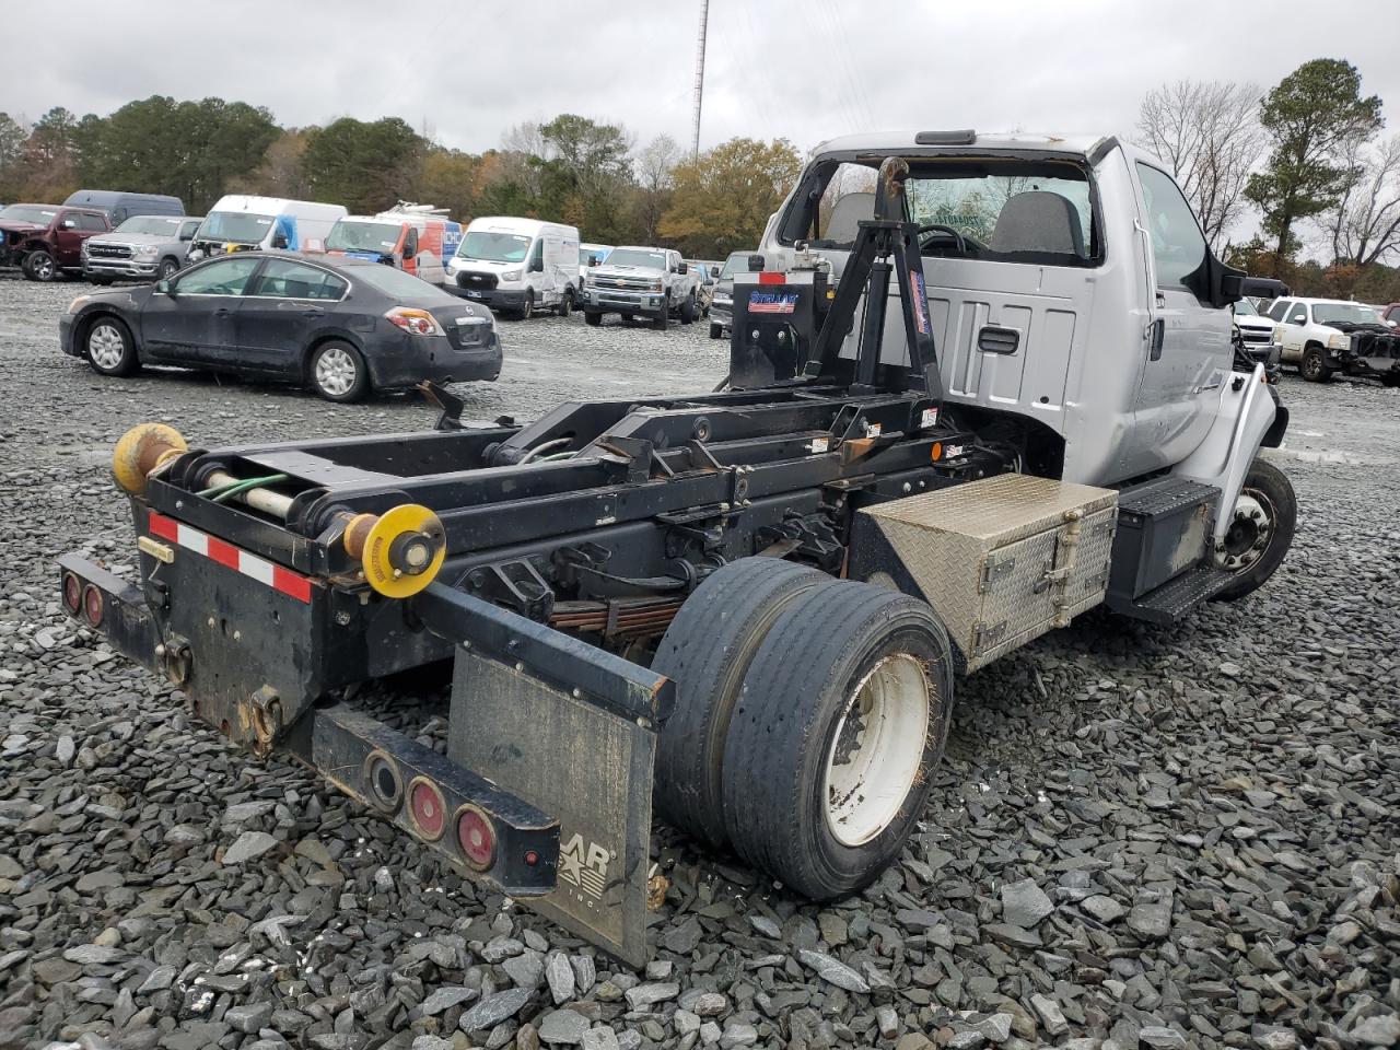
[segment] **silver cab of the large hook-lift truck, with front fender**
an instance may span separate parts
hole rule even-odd
[[[1224,536],[1245,472],[1287,414],[1275,420],[1267,386],[1232,371],[1232,272],[1166,165],[1112,136],[833,139],[770,221],[767,265],[785,269],[805,244],[839,276],[890,154],[911,169],[946,399],[1058,435],[1067,482],[1170,472],[1212,484]],[[907,360],[903,333],[886,329],[882,353]]]

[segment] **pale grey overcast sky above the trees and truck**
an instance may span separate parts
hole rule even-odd
[[[218,95],[283,125],[402,116],[479,151],[561,112],[644,144],[690,140],[700,0],[6,0],[31,41],[0,109],[108,113],[133,98]],[[878,22],[867,11],[885,13]],[[1396,0],[1261,8],[1138,0],[711,0],[701,147],[783,136],[808,150],[881,127],[1130,134],[1169,80],[1254,81],[1343,57],[1400,130]],[[63,29],[57,34],[57,29]]]

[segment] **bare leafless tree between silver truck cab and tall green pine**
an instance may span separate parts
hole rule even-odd
[[[1256,84],[1179,80],[1149,91],[1138,109],[1138,143],[1176,171],[1217,253],[1246,206],[1266,139]]]

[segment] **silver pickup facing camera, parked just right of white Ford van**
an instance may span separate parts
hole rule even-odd
[[[601,325],[603,314],[623,321],[648,318],[665,332],[672,316],[689,325],[700,316],[699,276],[668,248],[613,248],[594,266],[584,286],[584,321]]]

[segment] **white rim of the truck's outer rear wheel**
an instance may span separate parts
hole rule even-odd
[[[826,753],[826,826],[841,846],[862,846],[899,815],[921,776],[931,697],[924,665],[886,657],[861,679]]]

